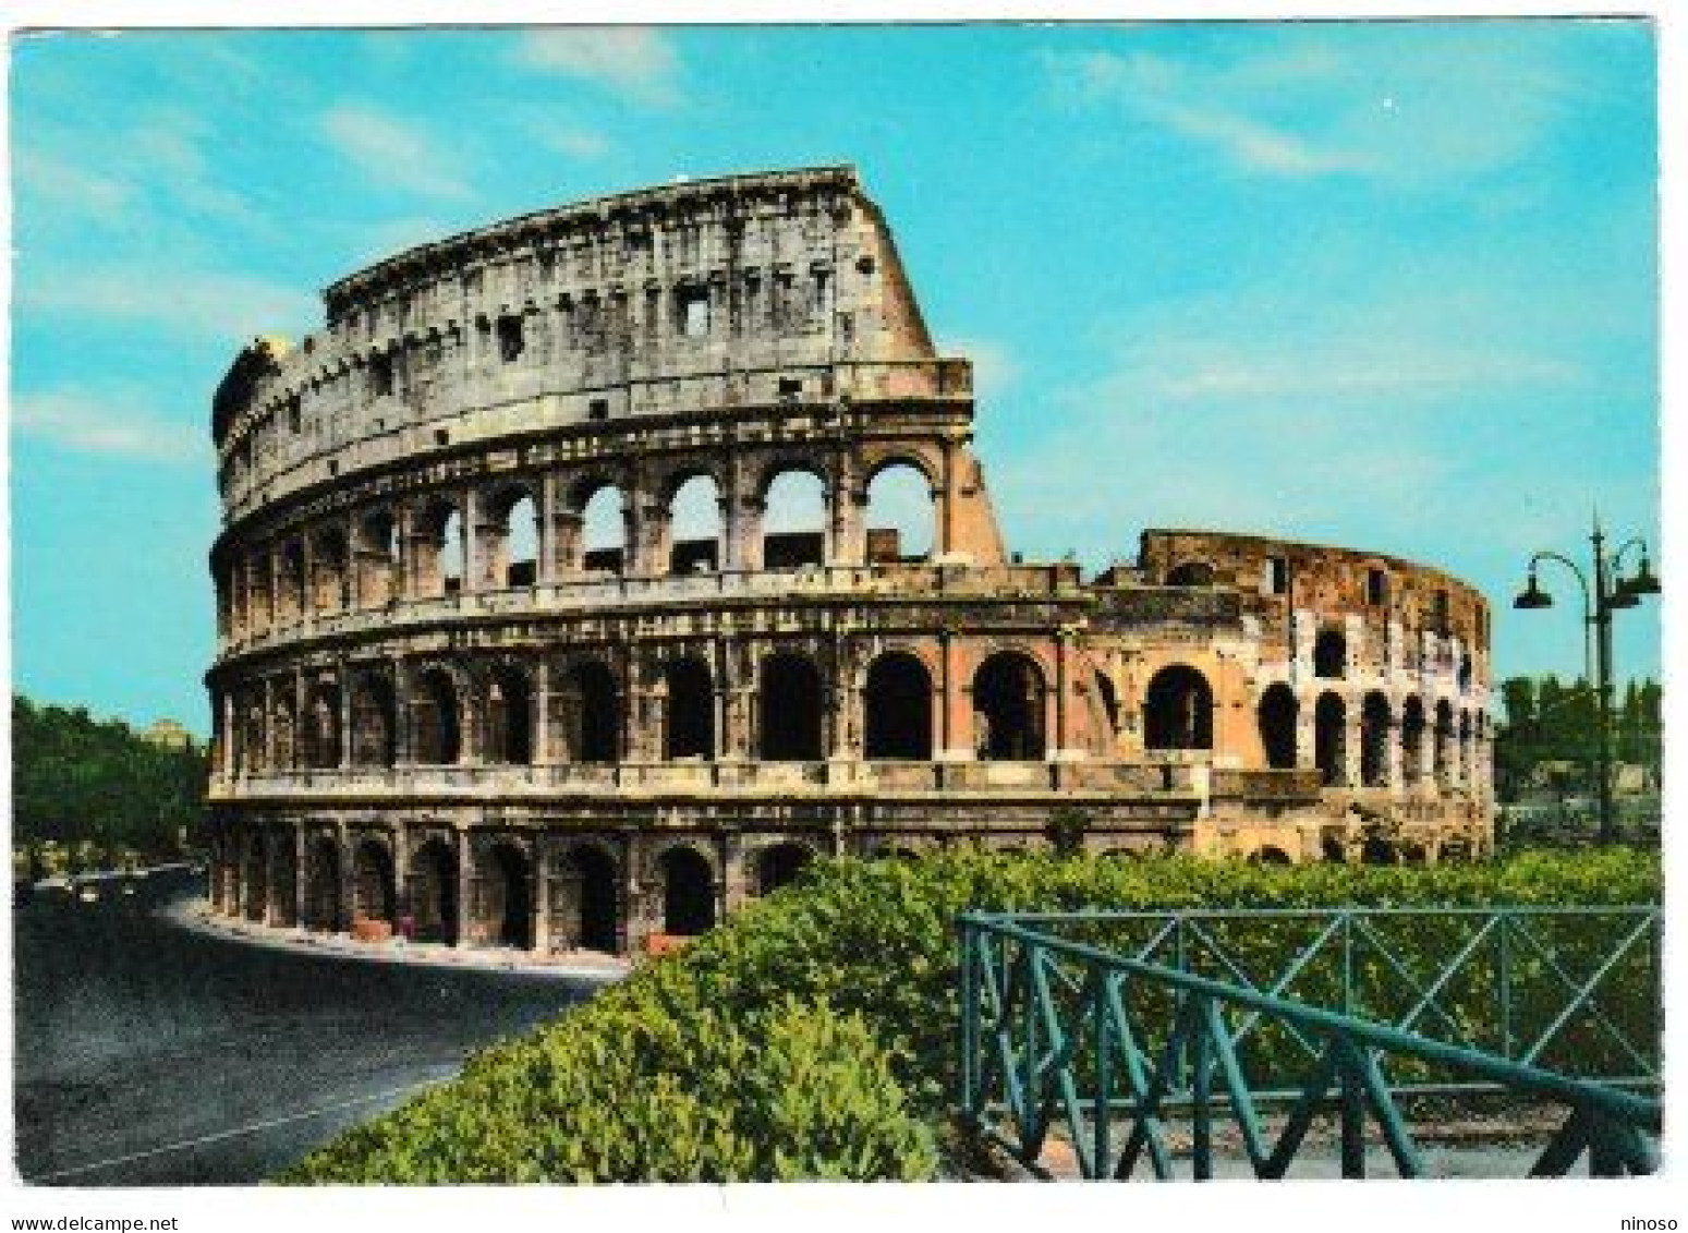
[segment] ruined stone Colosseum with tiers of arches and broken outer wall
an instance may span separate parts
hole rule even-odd
[[[216,912],[626,954],[819,855],[1491,848],[1484,598],[1212,530],[1090,578],[1009,552],[972,368],[849,167],[513,218],[324,301],[213,402]]]

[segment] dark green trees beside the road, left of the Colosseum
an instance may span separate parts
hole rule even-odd
[[[12,845],[93,845],[176,856],[204,836],[208,755],[142,740],[127,723],[12,696]]]

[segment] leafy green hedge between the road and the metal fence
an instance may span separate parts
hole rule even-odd
[[[979,851],[829,861],[282,1181],[932,1177],[954,1094],[954,915],[967,907],[1658,899],[1658,855],[1627,850],[1430,870]],[[1261,953],[1285,944],[1256,939]]]

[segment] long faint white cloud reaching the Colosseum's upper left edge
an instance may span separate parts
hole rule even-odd
[[[22,307],[61,318],[143,323],[172,334],[245,339],[302,331],[321,316],[297,287],[240,274],[111,265],[20,284]]]

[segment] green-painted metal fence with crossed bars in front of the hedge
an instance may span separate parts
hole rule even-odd
[[[1658,907],[971,912],[960,1113],[1033,1172],[1052,1132],[1085,1177],[1210,1177],[1217,1116],[1258,1177],[1332,1118],[1345,1177],[1376,1123],[1425,1176],[1403,1101],[1504,1093],[1563,1115],[1533,1174],[1651,1172]],[[1641,1091],[1637,1091],[1641,1089]],[[1268,1143],[1266,1110],[1281,1108]]]

